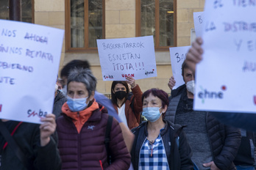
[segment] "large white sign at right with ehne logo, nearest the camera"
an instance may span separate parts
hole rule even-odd
[[[205,1],[204,15],[194,108],[256,113],[256,4]]]

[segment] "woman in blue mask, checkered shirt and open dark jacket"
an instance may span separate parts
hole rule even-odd
[[[132,165],[137,169],[193,169],[191,147],[180,125],[164,118],[168,95],[160,89],[149,89],[142,95],[147,122],[132,129]]]

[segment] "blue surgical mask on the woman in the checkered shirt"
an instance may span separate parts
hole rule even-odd
[[[158,107],[143,108],[142,116],[145,117],[147,120],[149,120],[149,122],[155,122],[160,118],[162,114],[159,111],[160,108]]]

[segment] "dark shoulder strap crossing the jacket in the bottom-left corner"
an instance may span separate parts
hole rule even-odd
[[[15,152],[15,155],[18,157],[18,160],[20,160],[21,163],[23,163],[27,169],[32,169],[32,167],[29,166],[28,161],[26,161],[24,152],[22,152],[21,148],[18,147],[18,144],[16,143],[16,141],[14,141],[13,137],[10,135],[9,130],[7,130],[7,127],[5,127],[4,123],[1,122],[1,119],[0,119],[0,133],[2,134],[2,136],[4,136],[4,139],[8,142],[10,147],[13,149],[13,151]]]

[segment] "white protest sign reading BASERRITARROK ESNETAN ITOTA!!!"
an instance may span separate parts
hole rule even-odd
[[[157,76],[153,36],[97,40],[103,81]]]

